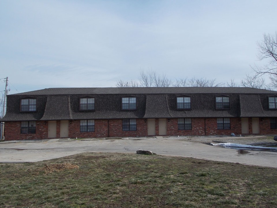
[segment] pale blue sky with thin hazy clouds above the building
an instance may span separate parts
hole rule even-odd
[[[257,41],[277,30],[276,8],[276,0],[0,0],[0,78],[9,77],[9,94],[115,87],[149,69],[239,83],[259,64]]]

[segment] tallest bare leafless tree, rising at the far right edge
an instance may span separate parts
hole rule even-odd
[[[252,69],[259,75],[269,75],[272,86],[277,87],[277,31],[275,34],[264,34],[263,41],[257,43],[259,60],[266,60],[264,66],[253,66]]]

